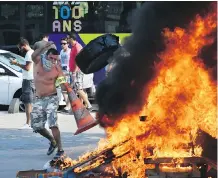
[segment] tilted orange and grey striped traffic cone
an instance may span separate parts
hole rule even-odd
[[[68,93],[68,98],[71,104],[71,108],[76,119],[77,131],[74,135],[82,133],[98,124],[89,111],[84,107],[83,103],[77,97],[68,83],[64,83],[64,86]]]

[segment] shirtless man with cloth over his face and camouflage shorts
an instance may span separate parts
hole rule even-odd
[[[64,154],[64,150],[62,149],[57,123],[59,100],[55,82],[58,77],[64,76],[64,74],[59,62],[58,51],[54,48],[49,49],[52,45],[52,43],[47,44],[45,47],[35,50],[32,54],[36,100],[33,103],[31,113],[31,127],[36,133],[50,141],[47,155],[52,154],[58,148],[56,157],[59,157]],[[47,52],[44,53],[46,50]],[[46,121],[48,121],[53,136],[45,128]]]

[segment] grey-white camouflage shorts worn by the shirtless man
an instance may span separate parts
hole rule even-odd
[[[49,128],[58,127],[58,106],[59,99],[57,95],[36,97],[31,113],[31,127],[35,132],[45,128],[46,121],[48,121]]]

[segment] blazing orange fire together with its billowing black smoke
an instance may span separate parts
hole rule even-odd
[[[174,11],[174,7],[179,10]],[[141,14],[151,16],[153,26],[147,24],[144,32],[137,27],[133,29],[132,37],[124,45],[131,56],[118,56],[118,64],[98,88],[100,112],[107,115],[107,119],[100,119],[107,139],[99,142],[98,149],[102,144],[129,140],[129,144],[113,150],[115,156],[129,150],[112,160],[116,176],[122,172],[129,178],[145,177],[145,170],[153,169],[152,165],[144,164],[148,157],[201,157],[202,147],[196,143],[198,130],[217,137],[216,82],[200,58],[201,50],[216,40],[212,34],[217,29],[217,8],[213,4],[208,13],[199,15],[206,7],[201,2],[147,3]],[[169,8],[173,12],[164,16]],[[156,14],[157,10],[163,17]],[[153,17],[158,18],[155,23]],[[140,39],[140,35],[146,37]],[[141,122],[139,117],[143,115],[147,117]],[[193,165],[179,166],[164,164],[160,170],[193,171]]]

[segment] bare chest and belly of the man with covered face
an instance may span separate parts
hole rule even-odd
[[[55,81],[58,77],[58,71],[54,67],[50,72],[46,72],[41,61],[34,63],[34,82],[36,87],[36,96],[50,96],[57,93]]]

